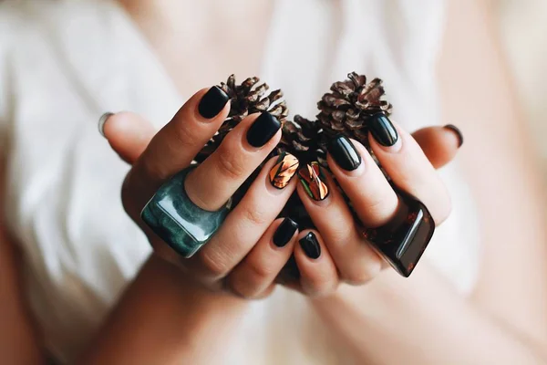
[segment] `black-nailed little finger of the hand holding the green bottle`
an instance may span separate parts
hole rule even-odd
[[[245,298],[263,297],[293,253],[297,234],[298,224],[292,219],[275,220],[249,255],[228,276],[227,283],[232,292]]]

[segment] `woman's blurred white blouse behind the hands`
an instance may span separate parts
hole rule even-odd
[[[443,3],[279,0],[259,76],[284,89],[291,110],[313,117],[330,84],[356,70],[384,79],[394,119],[408,130],[438,124]],[[99,135],[98,117],[132,110],[160,125],[183,101],[115,3],[0,3],[4,208],[24,252],[31,309],[61,363],[88,343],[150,255],[119,200],[128,166]],[[441,174],[454,209],[424,259],[464,295],[477,275],[478,224],[454,164]],[[340,363],[343,354],[324,334],[304,298],[280,288],[252,304],[232,343],[217,352],[223,364]]]

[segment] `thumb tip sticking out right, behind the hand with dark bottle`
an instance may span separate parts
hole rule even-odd
[[[422,128],[412,133],[412,137],[436,169],[452,161],[463,144],[461,131],[453,125]]]

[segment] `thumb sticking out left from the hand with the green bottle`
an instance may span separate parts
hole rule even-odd
[[[139,159],[156,134],[150,121],[129,111],[103,114],[98,121],[98,129],[119,157],[131,165]]]

